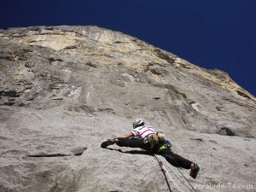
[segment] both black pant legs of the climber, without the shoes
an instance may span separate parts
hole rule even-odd
[[[136,137],[130,138],[118,138],[119,142],[116,143],[119,147],[129,147],[129,148],[143,148],[150,151],[150,143],[143,143],[143,139],[138,139]],[[158,152],[161,156],[165,157],[166,160],[172,164],[172,166],[182,167],[184,169],[190,169],[191,161],[174,154],[170,148],[166,148]]]

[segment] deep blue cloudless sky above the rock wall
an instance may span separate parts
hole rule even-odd
[[[0,28],[96,25],[198,66],[218,68],[256,96],[255,0],[9,0]]]

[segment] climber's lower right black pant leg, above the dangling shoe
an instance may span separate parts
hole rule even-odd
[[[179,156],[178,154],[174,154],[170,148],[163,149],[158,154],[165,157],[166,160],[170,164],[172,164],[172,166],[182,167],[184,169],[190,169],[190,165],[191,163],[193,163],[190,160],[187,160],[182,156]]]

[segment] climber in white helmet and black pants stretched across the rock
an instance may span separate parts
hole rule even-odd
[[[174,154],[171,149],[172,145],[169,140],[166,140],[164,133],[154,131],[151,126],[145,125],[143,119],[140,118],[135,119],[132,126],[131,132],[126,133],[123,137],[108,139],[102,143],[101,147],[107,148],[115,143],[119,147],[143,148],[150,153],[162,155],[172,166],[190,169],[189,175],[191,177],[197,176],[200,166]]]

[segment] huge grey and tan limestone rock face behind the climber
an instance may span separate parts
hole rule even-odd
[[[0,30],[0,82],[0,191],[168,191],[152,156],[100,148],[137,117],[201,166],[197,191],[255,184],[256,99],[217,69],[96,26],[33,26]]]

